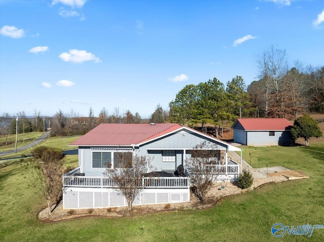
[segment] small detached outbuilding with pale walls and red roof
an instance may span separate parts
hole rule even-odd
[[[239,118],[231,129],[234,142],[246,146],[289,146],[294,141],[292,127],[284,118]]]

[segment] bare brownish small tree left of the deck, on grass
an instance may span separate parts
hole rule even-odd
[[[34,185],[43,193],[49,215],[52,205],[62,196],[63,158],[62,151],[56,148],[38,147],[33,153]]]

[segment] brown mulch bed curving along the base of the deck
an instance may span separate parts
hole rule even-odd
[[[50,216],[48,210],[43,209],[37,214],[37,218],[42,222],[55,222],[62,221],[78,217],[89,217],[89,216],[99,216],[105,218],[114,217],[136,217],[146,214],[152,214],[157,212],[177,212],[180,210],[201,210],[208,209],[212,206],[217,205],[223,198],[239,194],[245,191],[250,191],[256,187],[273,182],[287,181],[288,179],[282,175],[267,178],[254,179],[253,184],[248,189],[238,188],[235,184],[231,182],[218,182],[208,193],[207,203],[201,205],[199,201],[190,193],[190,202],[186,203],[173,203],[173,204],[157,204],[157,205],[138,205],[133,207],[133,211],[128,212],[127,207],[117,207],[117,208],[104,208],[104,209],[75,209],[67,210],[63,209],[62,203],[52,212]]]

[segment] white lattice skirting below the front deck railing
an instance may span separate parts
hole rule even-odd
[[[189,188],[144,189],[133,205],[189,202]],[[66,187],[63,189],[64,209],[88,209],[127,206],[121,192],[112,188]]]

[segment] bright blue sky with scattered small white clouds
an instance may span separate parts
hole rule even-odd
[[[0,0],[0,113],[149,117],[187,84],[257,80],[270,45],[324,65],[324,1]]]

